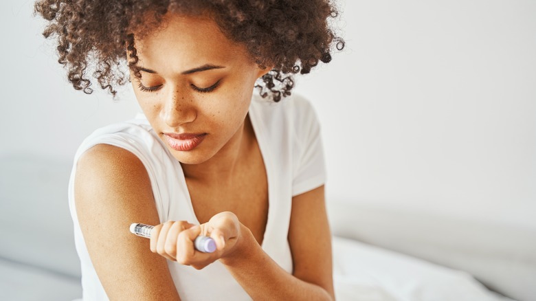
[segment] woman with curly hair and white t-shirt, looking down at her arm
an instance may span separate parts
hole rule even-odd
[[[320,128],[308,102],[287,98],[288,74],[342,47],[333,6],[154,2],[36,3],[74,87],[91,93],[94,62],[115,95],[126,63],[144,113],[75,157],[84,299],[333,299]],[[157,226],[146,241],[131,223]],[[194,249],[199,235],[216,251]]]

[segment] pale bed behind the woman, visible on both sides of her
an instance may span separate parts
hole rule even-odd
[[[0,155],[0,299],[75,300],[71,162]],[[535,232],[328,201],[337,300],[536,299]],[[478,239],[477,239],[478,238]]]

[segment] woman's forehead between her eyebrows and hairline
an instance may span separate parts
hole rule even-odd
[[[139,65],[159,73],[251,61],[245,47],[227,38],[208,16],[166,14],[161,25],[141,36],[135,41]]]

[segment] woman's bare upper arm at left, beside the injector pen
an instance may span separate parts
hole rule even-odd
[[[76,214],[93,267],[111,300],[179,300],[166,259],[131,223],[160,223],[142,162],[123,148],[98,144],[80,157]]]

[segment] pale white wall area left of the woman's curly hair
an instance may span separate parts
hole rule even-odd
[[[76,91],[57,63],[44,22],[33,16],[34,1],[0,4],[0,154],[19,152],[74,157],[78,144],[98,126],[132,118],[138,107],[128,89],[114,102],[107,93]]]

